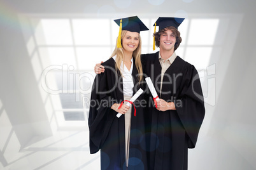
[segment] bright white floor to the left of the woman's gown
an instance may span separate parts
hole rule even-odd
[[[0,169],[100,169],[99,152],[89,153],[89,132],[57,132],[45,139],[33,138],[31,144],[20,150],[17,157],[8,160]]]

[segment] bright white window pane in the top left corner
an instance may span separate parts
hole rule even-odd
[[[41,20],[45,44],[40,45],[71,45],[70,22],[67,19],[43,19]]]

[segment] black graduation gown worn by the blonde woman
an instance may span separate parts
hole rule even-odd
[[[135,63],[135,62],[134,62]],[[124,100],[122,77],[115,70],[115,60],[102,64],[104,73],[97,74],[92,87],[89,111],[90,154],[101,150],[101,169],[126,169],[125,166],[125,118],[118,118],[111,109],[114,103]],[[138,83],[138,70],[133,64],[135,94],[143,85]],[[107,93],[102,93],[107,92]],[[143,94],[136,101],[143,99]],[[132,107],[129,169],[147,169],[145,151],[145,122],[143,108],[136,105],[136,117]]]

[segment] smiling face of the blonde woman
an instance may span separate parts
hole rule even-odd
[[[126,52],[133,52],[139,45],[139,33],[127,31],[122,39],[122,48]]]

